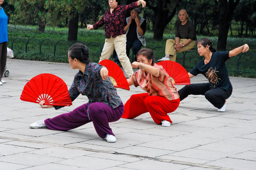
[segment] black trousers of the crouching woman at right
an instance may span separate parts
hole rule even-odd
[[[211,89],[210,83],[195,83],[186,85],[178,91],[180,101],[188,97],[190,94],[193,95],[204,95],[205,98],[216,108],[220,109],[225,104],[225,100],[232,94],[232,89],[228,91],[217,88]]]

